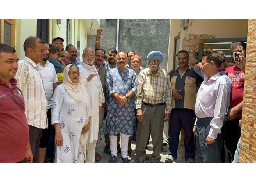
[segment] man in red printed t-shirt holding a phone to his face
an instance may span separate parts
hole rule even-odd
[[[228,109],[227,121],[224,122],[224,140],[227,150],[230,151],[230,162],[234,158],[237,143],[241,136],[239,120],[242,118],[243,108],[243,87],[245,83],[245,61],[246,61],[246,43],[234,42],[230,46],[234,66],[228,67],[225,74],[232,81],[230,94],[230,107]]]

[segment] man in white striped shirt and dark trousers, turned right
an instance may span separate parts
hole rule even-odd
[[[47,49],[43,40],[33,36],[25,40],[23,47],[25,57],[18,61],[19,68],[15,78],[24,96],[33,163],[37,163],[42,129],[48,126],[47,97],[37,64],[45,58]]]

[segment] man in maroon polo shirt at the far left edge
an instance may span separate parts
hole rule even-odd
[[[0,163],[32,163],[24,99],[13,78],[18,69],[15,52],[0,44]]]

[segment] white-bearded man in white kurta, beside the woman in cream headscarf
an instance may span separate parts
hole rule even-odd
[[[99,115],[101,114],[101,106],[104,103],[104,93],[98,71],[93,64],[95,61],[95,50],[86,47],[83,50],[83,63],[79,65],[82,79],[85,81],[85,87],[90,97],[92,108],[92,118],[89,128],[89,136],[86,149],[85,163],[94,163],[95,146],[99,136]]]

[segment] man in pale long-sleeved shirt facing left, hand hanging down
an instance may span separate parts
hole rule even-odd
[[[196,97],[197,118],[193,129],[196,135],[199,163],[221,163],[222,161],[221,128],[227,110],[228,86],[218,71],[221,63],[222,57],[217,51],[207,51],[206,59],[202,60],[205,78]]]

